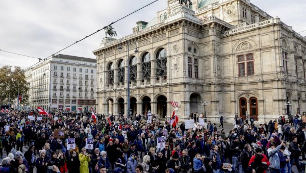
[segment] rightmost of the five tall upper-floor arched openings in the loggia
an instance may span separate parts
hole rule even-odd
[[[166,50],[161,48],[156,54],[156,76],[157,80],[167,79]]]

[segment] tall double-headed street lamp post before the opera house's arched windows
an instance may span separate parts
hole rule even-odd
[[[122,42],[122,40],[125,40],[126,41],[126,43],[127,43],[127,58],[126,58],[126,66],[127,66],[127,74],[126,74],[126,76],[127,76],[127,79],[126,79],[126,81],[127,81],[127,87],[126,87],[126,94],[127,94],[127,98],[126,98],[126,103],[127,103],[127,110],[126,110],[126,116],[127,116],[127,119],[129,119],[130,118],[130,114],[131,114],[131,110],[130,110],[130,64],[128,63],[129,61],[129,56],[130,56],[130,44],[133,42],[134,44],[135,44],[135,53],[138,53],[138,50],[137,50],[137,44],[136,44],[136,42],[135,41],[131,41],[131,40],[126,40],[126,39],[124,39],[124,38],[121,38],[121,40],[120,40],[120,42],[119,42],[119,46],[118,46],[118,49],[119,50],[121,50],[122,49],[122,46],[121,46],[121,42]]]

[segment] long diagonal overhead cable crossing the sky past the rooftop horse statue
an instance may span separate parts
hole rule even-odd
[[[78,42],[85,40],[86,38],[88,38],[88,37],[90,37],[90,36],[92,36],[92,35],[98,33],[98,32],[101,31],[101,30],[104,30],[105,28],[111,26],[112,24],[114,24],[114,23],[116,23],[116,22],[118,22],[118,21],[120,21],[120,20],[126,18],[127,16],[130,16],[130,15],[132,15],[132,14],[138,12],[139,10],[142,10],[143,8],[145,8],[145,7],[147,7],[147,6],[151,5],[151,4],[156,3],[157,1],[159,1],[159,0],[155,0],[155,1],[153,1],[153,2],[151,2],[151,3],[149,3],[149,4],[147,4],[147,5],[145,5],[145,6],[143,6],[143,7],[141,7],[141,8],[139,8],[139,9],[133,11],[132,13],[129,13],[129,14],[127,14],[127,15],[121,17],[120,19],[117,19],[116,21],[111,22],[110,24],[108,24],[108,26],[103,27],[102,29],[99,29],[99,30],[95,31],[94,33],[92,33],[92,34],[90,34],[90,35],[88,35],[88,36],[82,38],[81,40],[75,41],[74,43],[72,43],[72,44],[70,44],[70,45],[68,45],[68,46],[66,46],[66,47],[64,47],[64,48],[62,48],[60,51],[58,51],[58,52],[56,52],[56,53],[54,53],[54,54],[52,54],[52,55],[50,55],[50,56],[48,56],[48,57],[42,59],[42,60],[45,61],[45,60],[47,60],[48,58],[51,58],[53,55],[60,53],[61,51],[65,50],[66,48],[71,47],[72,45],[77,44]],[[21,54],[20,54],[20,55],[21,55]],[[32,58],[33,58],[33,57],[32,57]],[[40,63],[40,61],[37,62],[37,63],[35,63],[35,64],[33,64],[33,65],[31,65],[31,66],[28,67],[27,69],[29,69],[29,68],[35,66],[35,65],[38,64],[38,63]],[[25,69],[25,70],[27,70],[27,69]],[[22,70],[22,71],[24,71],[24,70]],[[4,82],[4,81],[6,81],[6,80],[8,80],[8,79],[10,79],[10,78],[13,78],[14,76],[16,76],[16,75],[18,75],[18,74],[19,74],[19,72],[16,73],[15,75],[13,75],[13,76],[9,76],[8,78],[6,78],[6,79],[4,79],[4,80],[2,80],[2,81],[0,81],[0,82]]]

